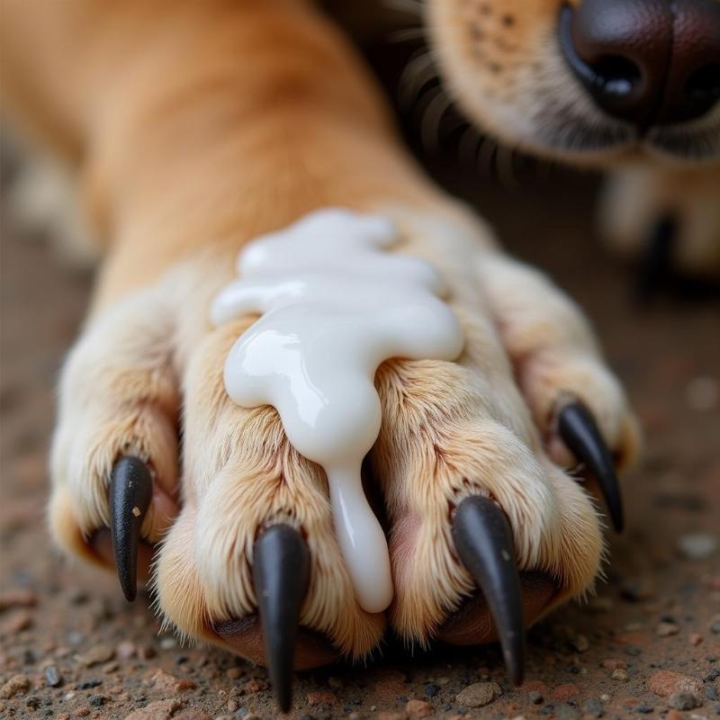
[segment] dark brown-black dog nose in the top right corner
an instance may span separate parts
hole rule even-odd
[[[563,53],[599,107],[641,126],[689,121],[720,99],[718,0],[563,6]]]

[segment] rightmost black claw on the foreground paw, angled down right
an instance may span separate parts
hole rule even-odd
[[[623,499],[615,464],[590,411],[580,402],[566,405],[558,415],[558,432],[572,454],[598,482],[617,533],[623,531]]]

